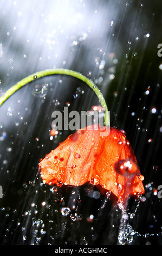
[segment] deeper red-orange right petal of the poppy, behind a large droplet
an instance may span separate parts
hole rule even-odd
[[[95,174],[100,176],[102,188],[112,191],[118,198],[127,198],[129,193],[144,193],[132,147],[125,134],[117,129],[111,128],[105,138],[102,154],[95,164]]]

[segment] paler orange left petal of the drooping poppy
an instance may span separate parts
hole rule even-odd
[[[99,129],[94,131],[94,126],[77,130],[51,150],[39,163],[42,179],[48,184],[55,184],[55,179],[64,185],[85,184],[92,176],[94,155],[101,153],[100,132]]]

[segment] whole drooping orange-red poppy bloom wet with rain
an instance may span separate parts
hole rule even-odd
[[[47,184],[81,186],[89,181],[101,193],[111,191],[126,202],[129,194],[144,193],[137,160],[125,133],[99,125],[77,130],[40,160],[41,177]]]

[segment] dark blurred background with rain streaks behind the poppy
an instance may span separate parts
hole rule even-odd
[[[157,55],[162,4],[59,2],[1,1],[1,95],[22,78],[48,68],[72,69],[92,79],[105,96],[111,126],[125,130],[134,149],[145,177],[145,194],[140,203],[129,199],[124,225],[113,199],[105,202],[102,196],[92,196],[95,187],[42,184],[39,160],[72,133],[62,131],[51,140],[51,113],[63,111],[66,102],[69,111],[81,112],[99,101],[75,78],[41,78],[0,108],[0,244],[119,245],[122,228],[122,242],[128,245],[161,245],[162,199],[155,192],[162,185],[162,57]],[[37,84],[46,84],[43,95],[35,93]],[[153,107],[157,112],[152,113]],[[67,216],[63,207],[70,209]]]

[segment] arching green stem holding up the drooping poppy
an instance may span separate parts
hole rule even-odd
[[[43,71],[39,71],[34,73],[33,75],[30,75],[28,77],[23,78],[20,82],[16,83],[14,86],[12,86],[7,92],[0,97],[0,106],[17,90],[19,90],[21,87],[25,86],[26,84],[35,81],[38,78],[49,76],[49,75],[68,75],[78,78],[79,80],[85,82],[90,88],[93,89],[95,94],[98,96],[98,99],[100,100],[101,106],[105,109],[105,117],[104,117],[104,124],[106,126],[109,126],[109,115],[108,115],[108,108],[106,105],[106,101],[100,92],[99,88],[96,87],[96,85],[90,81],[86,76],[83,76],[79,72],[75,72],[73,70],[69,69],[47,69]]]

